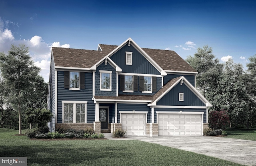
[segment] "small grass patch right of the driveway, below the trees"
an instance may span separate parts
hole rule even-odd
[[[246,129],[246,128],[228,128],[228,136],[226,138],[236,138],[242,140],[254,140],[256,141],[256,128]]]

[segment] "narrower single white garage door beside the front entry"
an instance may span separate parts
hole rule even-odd
[[[146,114],[121,114],[121,123],[126,136],[146,135]]]

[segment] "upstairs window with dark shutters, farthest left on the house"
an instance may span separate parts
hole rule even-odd
[[[85,89],[85,73],[78,71],[64,71],[64,88],[70,90]]]

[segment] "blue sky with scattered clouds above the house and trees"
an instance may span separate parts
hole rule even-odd
[[[0,0],[0,52],[25,43],[46,82],[51,46],[96,50],[129,37],[184,59],[208,45],[221,62],[246,67],[256,54],[256,1]]]

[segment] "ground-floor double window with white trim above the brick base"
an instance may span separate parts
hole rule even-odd
[[[62,123],[86,123],[87,101],[62,101]]]

